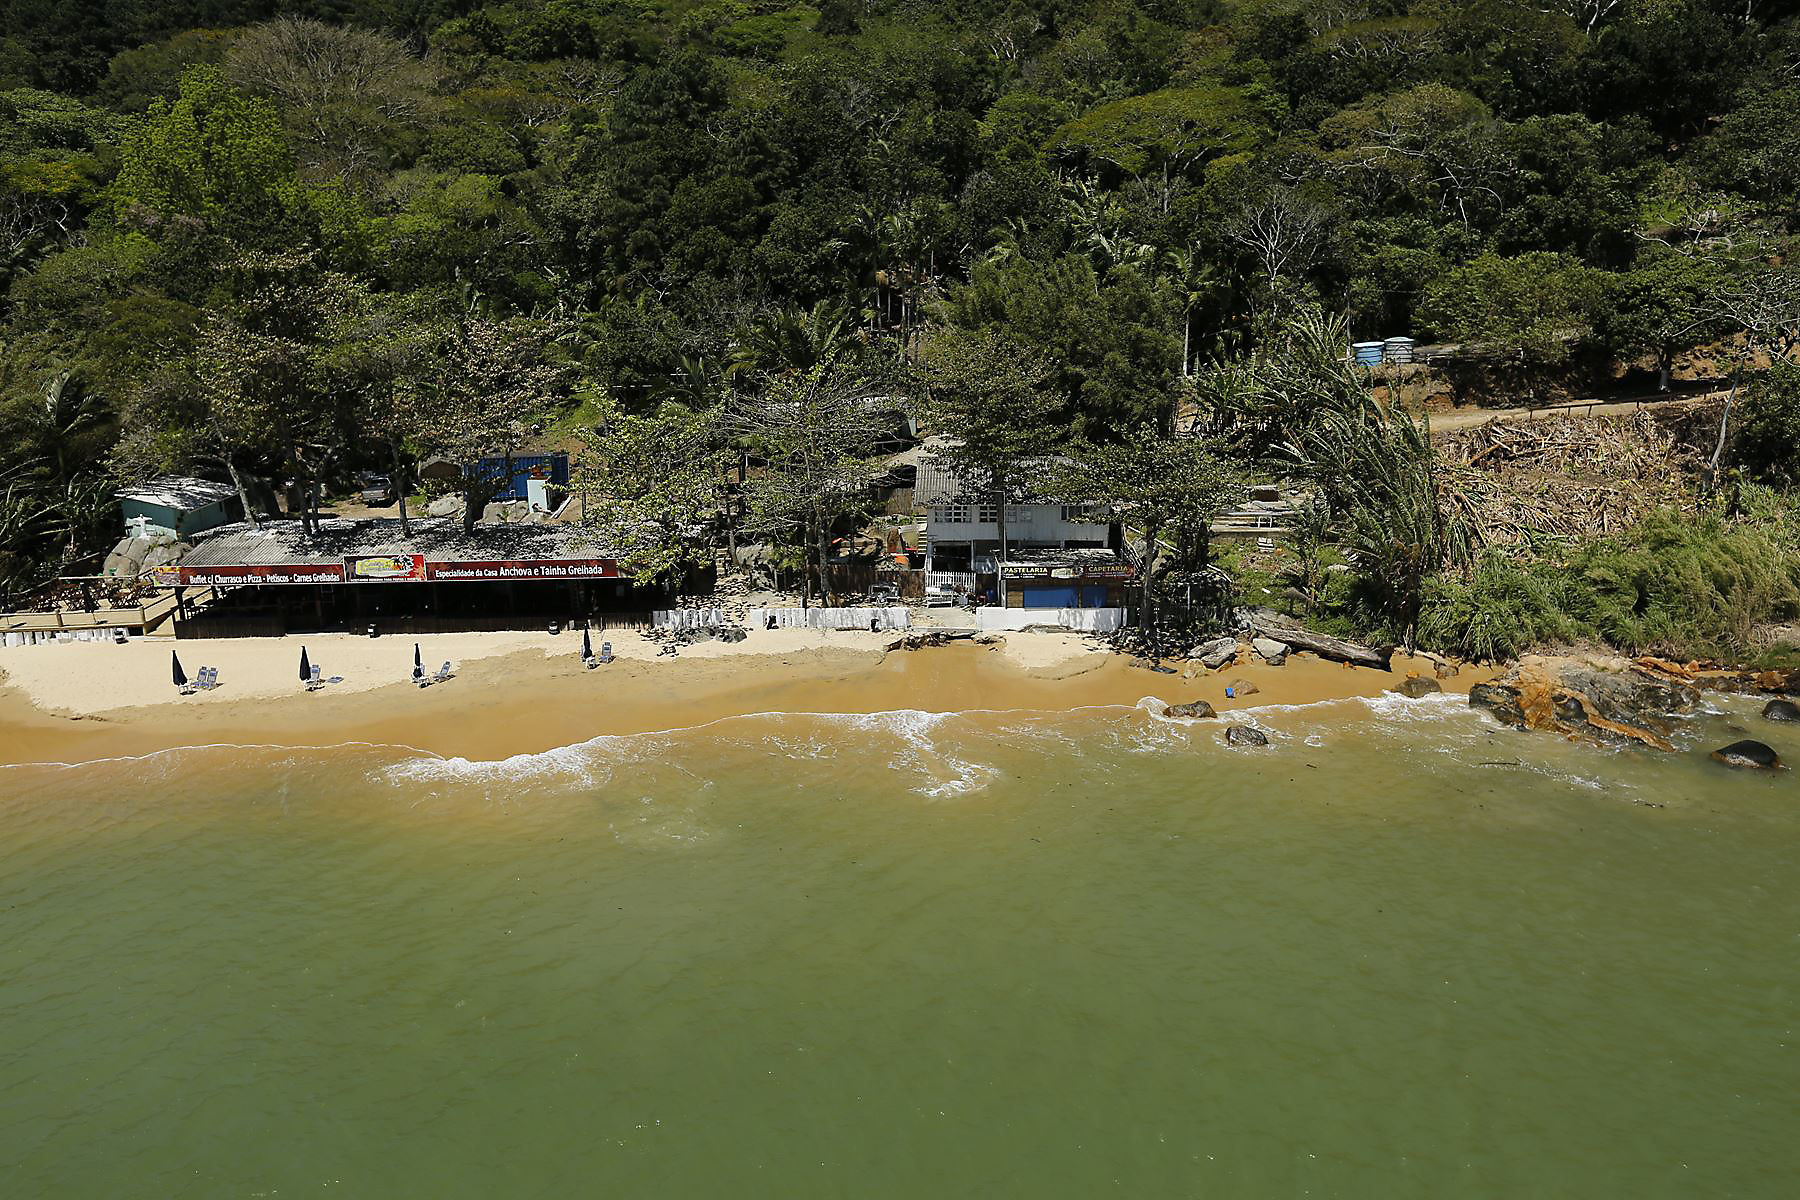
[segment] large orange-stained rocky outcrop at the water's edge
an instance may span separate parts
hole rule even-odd
[[[1699,691],[1622,658],[1523,658],[1490,684],[1469,689],[1469,703],[1514,729],[1543,729],[1568,738],[1672,750],[1674,716],[1690,711]]]

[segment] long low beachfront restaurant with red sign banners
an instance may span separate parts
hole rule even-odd
[[[643,588],[585,529],[419,518],[230,525],[158,583],[180,601],[176,637],[302,631],[450,633],[641,624],[675,587]],[[693,583],[693,581],[689,581]]]

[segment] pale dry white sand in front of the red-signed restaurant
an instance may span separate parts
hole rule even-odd
[[[893,633],[855,630],[752,630],[742,642],[709,640],[682,646],[680,658],[794,655],[815,649],[878,653],[893,637]],[[594,653],[599,653],[603,640],[612,642],[612,653],[619,658],[653,660],[661,649],[659,642],[641,633],[610,630],[594,635]],[[112,642],[5,646],[0,648],[0,673],[32,705],[61,714],[94,714],[149,703],[229,705],[241,700],[306,694],[299,678],[301,646],[326,678],[340,676],[340,682],[324,689],[326,693],[405,684],[412,678],[412,642],[410,637],[313,633],[184,642],[139,639],[124,646]],[[545,658],[565,657],[574,662],[581,653],[580,631],[563,631],[556,637],[542,631],[437,633],[418,642],[427,673],[436,671],[446,658],[461,666],[477,658],[538,651]],[[218,667],[220,685],[182,696],[171,682],[171,649],[180,653],[189,678],[198,675],[202,666]],[[448,685],[454,687],[455,680]]]

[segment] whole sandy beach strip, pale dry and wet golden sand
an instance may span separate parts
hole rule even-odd
[[[1395,657],[1366,671],[1309,655],[1220,671],[1175,664],[1174,675],[1109,653],[1076,633],[1010,633],[988,644],[886,648],[893,633],[758,630],[743,642],[684,646],[679,657],[634,631],[610,631],[616,662],[587,671],[578,635],[452,633],[421,639],[427,669],[455,676],[414,687],[412,640],[306,639],[76,642],[13,648],[0,657],[0,761],[88,761],[182,745],[407,745],[445,756],[506,757],[601,734],[682,729],[747,712],[884,712],[896,709],[1076,709],[1143,696],[1206,700],[1220,712],[1267,703],[1373,696],[1427,660]],[[329,684],[308,693],[301,646]],[[596,640],[598,648],[598,640]],[[169,651],[193,675],[216,666],[221,685],[182,696]],[[1481,675],[1463,669],[1445,691]],[[1255,694],[1228,698],[1247,680]]]

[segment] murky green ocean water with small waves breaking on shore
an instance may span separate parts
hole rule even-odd
[[[1793,1195],[1755,716],[1256,720],[0,770],[0,1195]]]

